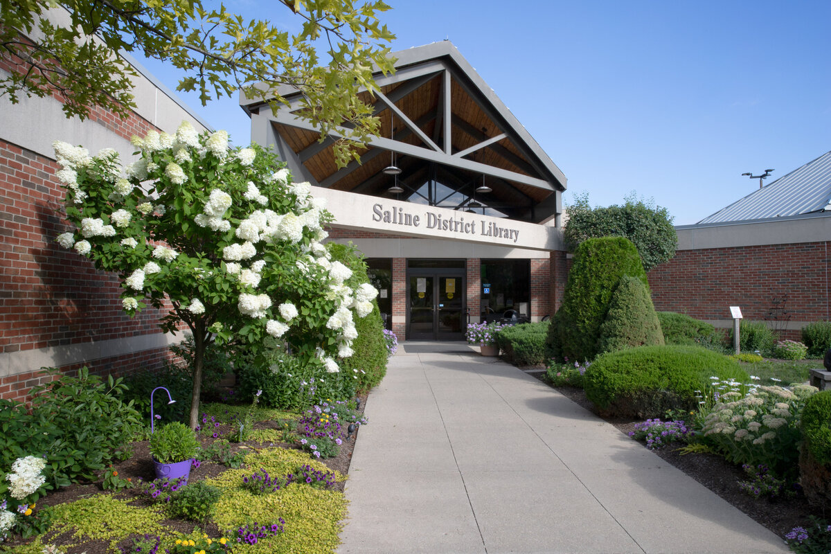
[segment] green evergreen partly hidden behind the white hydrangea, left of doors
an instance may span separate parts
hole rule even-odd
[[[332,253],[332,261],[341,262],[352,269],[352,279],[359,279],[358,282],[369,282],[366,275],[366,263],[360,252],[350,244],[329,243],[329,252]],[[350,282],[352,282],[350,280]],[[370,390],[381,382],[386,375],[386,339],[384,338],[384,322],[381,321],[381,311],[378,310],[378,302],[372,301],[372,311],[366,317],[356,317],[355,329],[358,337],[352,341],[354,353],[348,358],[338,360],[341,371],[347,375],[357,377],[357,390]]]

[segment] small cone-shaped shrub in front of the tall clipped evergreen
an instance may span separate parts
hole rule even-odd
[[[606,321],[600,326],[597,351],[612,352],[662,344],[661,323],[647,286],[637,277],[624,275],[612,294]]]

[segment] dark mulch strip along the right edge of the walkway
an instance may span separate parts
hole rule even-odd
[[[545,374],[529,375],[534,375],[539,380],[547,382]],[[569,400],[580,404],[583,408],[593,412],[593,414],[597,414],[598,417],[602,417],[602,415],[597,413],[594,404],[586,398],[586,393],[583,389],[557,387],[557,390],[568,397]],[[635,429],[636,424],[642,423],[640,420],[631,419],[604,419],[614,425],[623,434],[627,435]],[[826,518],[831,517],[831,514],[822,514],[818,510],[810,507],[801,494],[791,499],[777,498],[768,500],[764,498],[753,498],[749,494],[743,493],[739,488],[738,483],[747,478],[740,466],[711,453],[689,453],[681,455],[678,452],[679,449],[680,446],[670,444],[661,449],[653,450],[652,452],[663,458],[667,463],[671,463],[676,468],[681,469],[682,472],[694,478],[742,512],[745,512],[756,522],[779,535],[779,537],[783,537],[783,539],[785,533],[794,527],[809,527],[809,516],[811,515]]]

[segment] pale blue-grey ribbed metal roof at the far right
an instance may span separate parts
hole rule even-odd
[[[701,219],[725,223],[831,212],[831,152]]]

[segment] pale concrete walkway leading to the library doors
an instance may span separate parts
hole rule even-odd
[[[612,425],[464,343],[407,342],[366,401],[338,552],[788,552]]]

